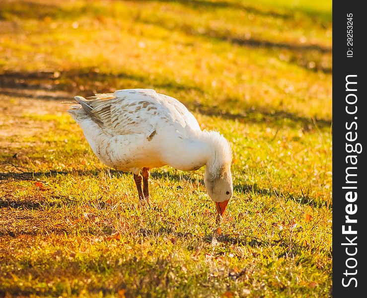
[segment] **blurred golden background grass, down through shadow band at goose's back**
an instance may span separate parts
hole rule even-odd
[[[205,111],[331,121],[331,1],[0,5],[1,87],[153,87]]]

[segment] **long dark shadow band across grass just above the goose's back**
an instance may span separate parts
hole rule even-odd
[[[114,88],[111,88],[114,86]],[[173,97],[174,93],[189,93],[190,98],[204,97],[205,91],[198,86],[182,85],[167,78],[151,79],[145,76],[119,73],[100,73],[98,69],[78,69],[61,72],[15,72],[6,71],[0,74],[0,94],[9,96],[19,96],[27,98],[73,100],[73,95],[68,97],[65,93],[58,94],[55,91],[73,92],[74,95],[82,92],[85,96],[95,93],[113,92],[119,88],[155,88],[167,89]],[[47,91],[42,94],[39,90]],[[82,91],[81,91],[82,90]],[[192,94],[195,94],[193,96]],[[237,100],[238,101],[238,100]],[[278,110],[270,112],[266,107],[257,110],[250,110],[243,106],[244,112],[241,114],[223,111],[223,107],[213,107],[203,105],[198,102],[189,101],[183,103],[191,110],[197,110],[207,116],[218,116],[223,119],[239,120],[243,123],[268,123],[269,125],[290,127],[314,126],[311,118],[298,116],[294,113]],[[243,102],[238,104],[244,105]],[[225,109],[225,107],[224,107]],[[289,120],[289,121],[287,121]],[[318,119],[319,128],[329,128],[331,121]]]

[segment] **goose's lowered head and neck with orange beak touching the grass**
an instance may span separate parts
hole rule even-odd
[[[217,213],[223,216],[233,194],[230,170],[232,150],[229,142],[220,133],[211,131],[208,135],[211,154],[205,168],[204,183],[208,195],[216,204]]]

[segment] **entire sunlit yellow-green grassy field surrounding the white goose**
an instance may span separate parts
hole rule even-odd
[[[331,1],[1,1],[0,295],[331,297],[331,32]],[[142,207],[61,104],[134,87],[232,144],[220,230],[204,169]]]

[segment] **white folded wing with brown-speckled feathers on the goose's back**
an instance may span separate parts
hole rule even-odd
[[[109,135],[145,134],[149,136],[159,124],[174,130],[197,131],[195,117],[177,99],[152,89],[123,89],[96,94],[92,99],[75,97],[83,115],[97,123]]]

